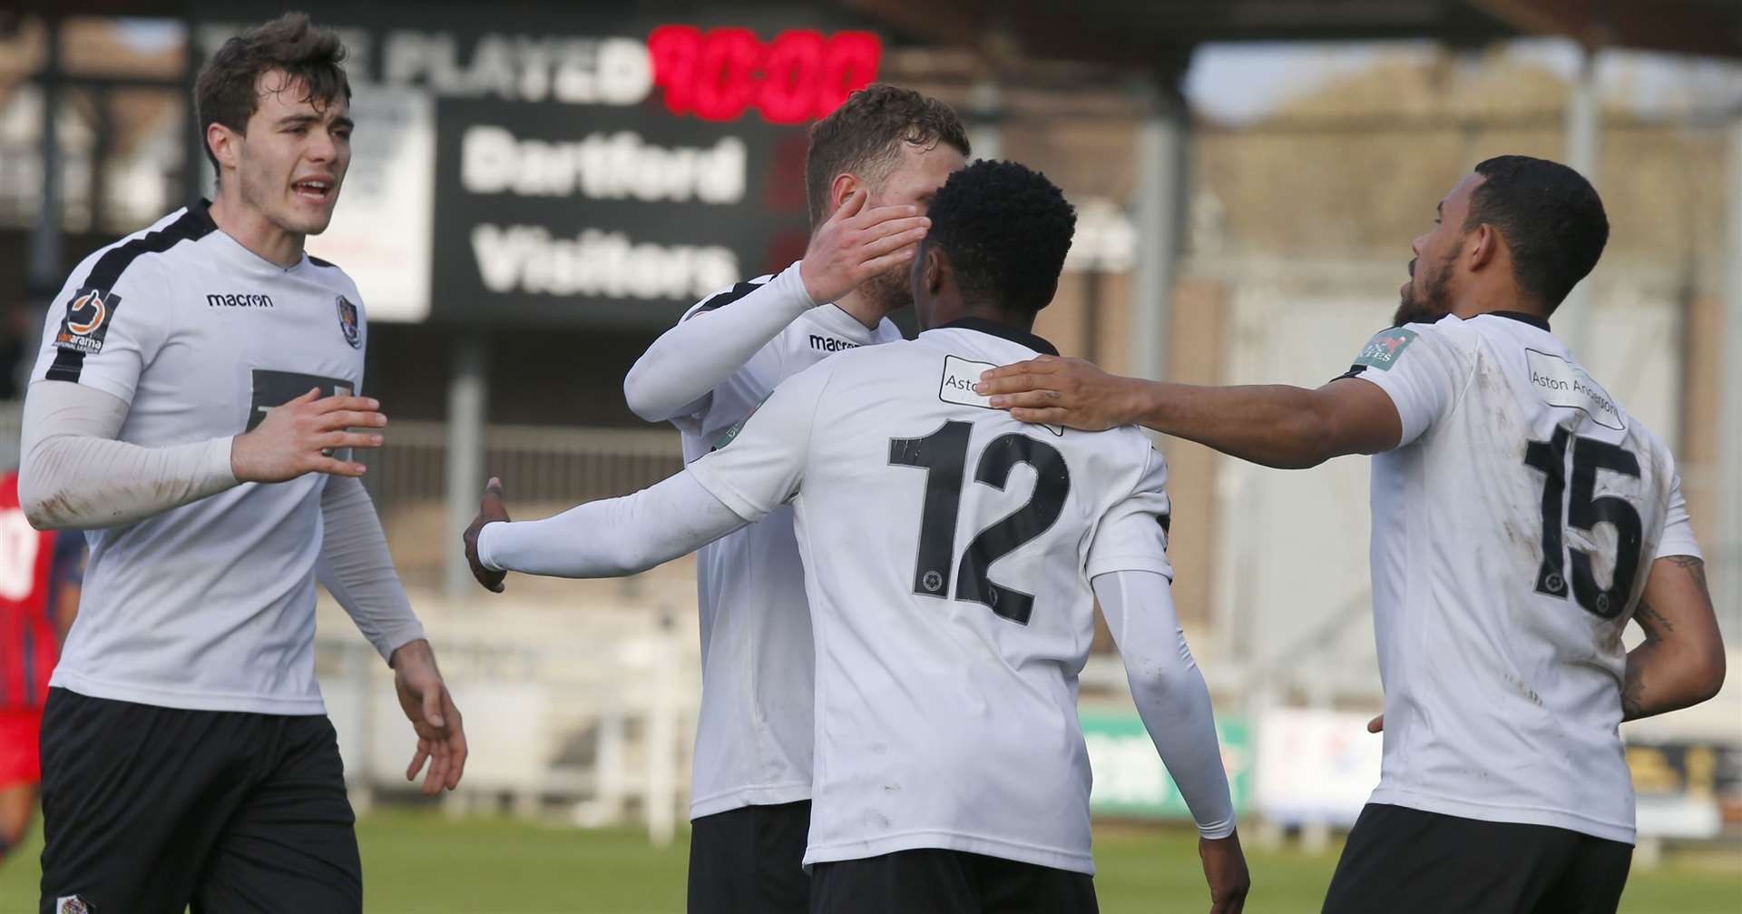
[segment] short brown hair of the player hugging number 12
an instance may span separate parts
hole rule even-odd
[[[854,92],[840,108],[810,126],[805,157],[805,197],[810,225],[829,218],[829,185],[836,174],[854,173],[866,181],[888,174],[901,145],[949,143],[969,153],[969,133],[955,108],[913,89],[873,82]]]

